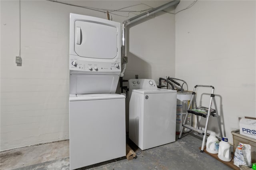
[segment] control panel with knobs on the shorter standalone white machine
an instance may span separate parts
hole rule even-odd
[[[133,89],[157,89],[156,82],[152,79],[130,79],[129,91]]]

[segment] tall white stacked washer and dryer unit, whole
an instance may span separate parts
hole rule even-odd
[[[120,23],[70,14],[70,169],[126,155]]]

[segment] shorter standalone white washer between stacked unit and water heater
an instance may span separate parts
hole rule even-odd
[[[130,79],[129,90],[129,138],[142,150],[175,142],[177,91],[152,79]]]

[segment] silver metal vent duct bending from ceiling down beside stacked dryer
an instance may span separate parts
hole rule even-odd
[[[123,63],[127,63],[127,57],[126,57],[126,26],[128,26],[129,24],[132,24],[134,22],[137,22],[139,20],[142,20],[143,18],[146,18],[150,15],[156,14],[157,12],[160,12],[170,6],[174,6],[176,4],[180,3],[180,0],[173,0],[171,2],[168,2],[164,5],[158,6],[152,10],[149,10],[147,12],[144,12],[140,15],[134,16],[128,20],[125,20],[122,23],[122,48],[121,48],[121,53],[122,53],[122,62]]]

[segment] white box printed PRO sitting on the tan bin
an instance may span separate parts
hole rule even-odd
[[[256,120],[240,119],[239,121],[240,134],[256,139]]]

